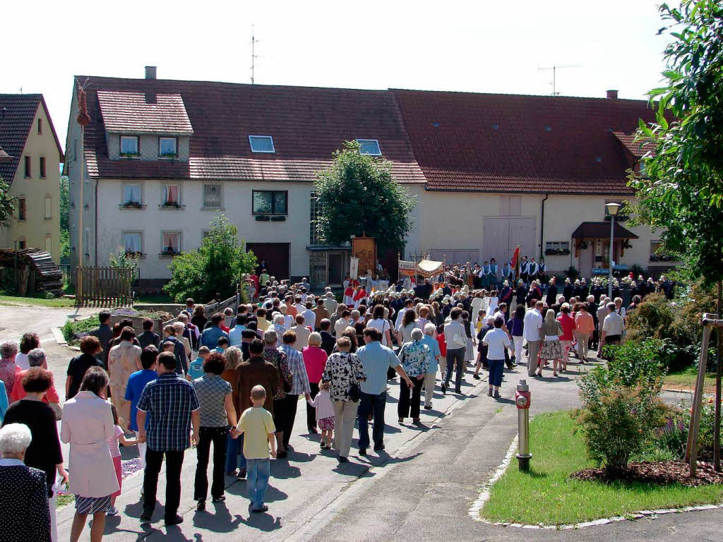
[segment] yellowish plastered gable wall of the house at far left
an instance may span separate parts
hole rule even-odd
[[[43,133],[38,134],[38,119],[42,120]],[[25,156],[30,156],[30,177],[25,177]],[[40,157],[46,160],[46,176],[40,177]],[[0,229],[0,246],[14,248],[14,240],[25,241],[27,248],[45,250],[50,239],[50,253],[55,262],[60,261],[60,155],[50,119],[41,104],[35,112],[30,133],[20,157],[15,177],[10,186],[10,196],[25,198],[26,220],[18,220],[15,205],[14,220],[9,228]],[[10,181],[10,179],[6,179]],[[46,218],[46,197],[51,200],[51,214]]]

